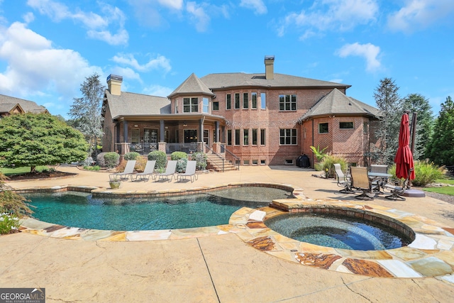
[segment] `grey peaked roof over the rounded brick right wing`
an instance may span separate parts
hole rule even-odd
[[[328,115],[365,115],[377,116],[378,109],[362,103],[352,97],[348,97],[338,89],[333,89],[325,97],[321,98],[309,111],[306,112],[299,121],[309,119],[314,116]]]

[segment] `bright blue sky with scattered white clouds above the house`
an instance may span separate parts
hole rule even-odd
[[[167,96],[194,72],[275,72],[350,84],[375,106],[380,79],[438,115],[454,97],[453,0],[0,0],[0,94],[65,118],[97,72]]]

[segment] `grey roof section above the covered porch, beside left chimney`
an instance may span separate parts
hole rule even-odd
[[[116,96],[108,89],[105,94],[109,101],[112,119],[117,119],[119,116],[170,114],[170,100],[166,97],[131,92],[121,92],[121,96]]]

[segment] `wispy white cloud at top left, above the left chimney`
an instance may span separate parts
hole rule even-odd
[[[52,0],[28,0],[28,6],[37,10],[41,14],[48,16],[54,22],[61,22],[70,19],[87,28],[89,38],[101,40],[110,45],[123,45],[128,43],[128,32],[124,29],[126,16],[123,11],[109,4],[101,4],[104,16],[93,12],[84,12],[77,9],[75,12],[64,4]],[[116,26],[116,33],[111,33],[109,29]]]

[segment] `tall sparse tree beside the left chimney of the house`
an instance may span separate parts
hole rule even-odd
[[[70,122],[74,128],[81,131],[87,138],[92,155],[95,150],[95,157],[98,153],[98,138],[102,136],[101,106],[106,87],[99,81],[99,75],[94,73],[80,85],[81,98],[74,98],[69,115],[73,121]]]

